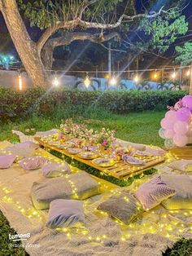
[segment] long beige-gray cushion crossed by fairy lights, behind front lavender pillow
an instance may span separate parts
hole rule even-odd
[[[85,171],[67,177],[52,178],[33,183],[31,196],[38,210],[48,209],[55,199],[84,200],[100,192],[100,185]]]

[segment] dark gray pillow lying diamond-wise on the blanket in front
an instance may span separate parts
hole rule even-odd
[[[129,224],[138,214],[143,212],[140,202],[128,192],[111,196],[107,201],[98,205],[98,210],[106,212],[125,224]]]

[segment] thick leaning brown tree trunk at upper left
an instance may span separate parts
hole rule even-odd
[[[48,79],[37,45],[31,40],[21,19],[15,0],[2,0],[0,11],[7,24],[15,48],[34,86],[47,86]]]

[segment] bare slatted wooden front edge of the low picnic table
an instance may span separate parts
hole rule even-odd
[[[65,156],[71,157],[72,159],[76,159],[77,161],[81,161],[87,166],[94,167],[94,169],[100,170],[104,173],[110,174],[111,176],[115,177],[116,179],[127,179],[129,177],[133,177],[137,174],[142,174],[143,171],[149,170],[151,167],[158,165],[159,163],[163,162],[165,159],[164,157],[140,157],[140,159],[146,161],[145,165],[143,166],[130,166],[129,164],[125,163],[124,161],[117,161],[115,166],[111,167],[101,167],[95,165],[92,160],[85,160],[78,155],[72,155],[65,149],[57,148],[55,145],[50,145],[45,143],[41,140],[41,137],[35,137],[37,142],[43,146],[44,148],[49,148],[51,150],[55,150],[56,152],[60,152]]]

